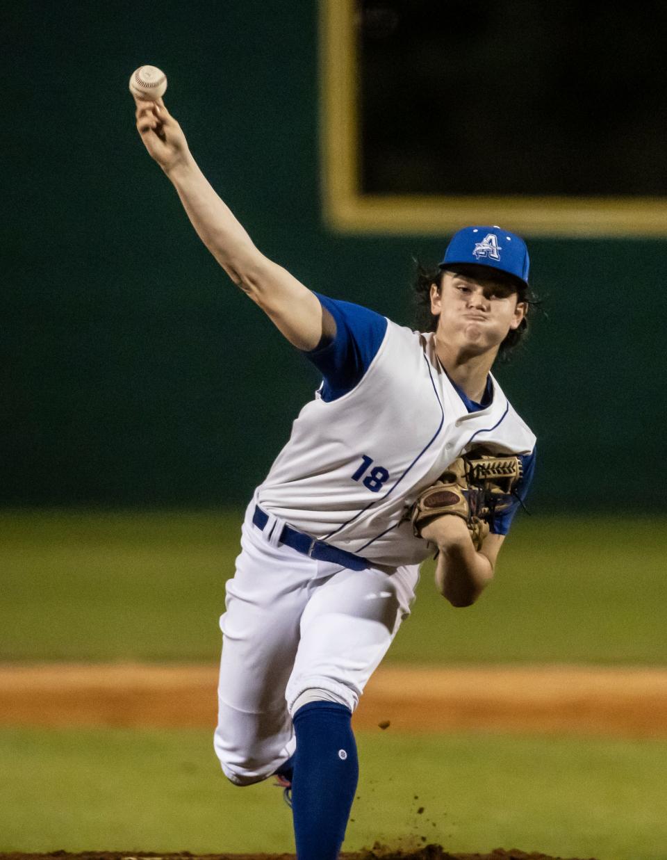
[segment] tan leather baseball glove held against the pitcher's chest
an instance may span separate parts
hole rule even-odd
[[[511,507],[521,479],[521,459],[498,457],[485,449],[456,458],[431,487],[422,490],[410,512],[413,531],[446,513],[465,519],[475,550],[480,550],[494,517]]]

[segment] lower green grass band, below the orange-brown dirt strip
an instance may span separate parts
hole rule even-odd
[[[667,741],[378,731],[358,746],[346,850],[424,836],[449,851],[667,857]],[[279,789],[227,783],[207,732],[5,728],[0,759],[0,851],[293,851]]]

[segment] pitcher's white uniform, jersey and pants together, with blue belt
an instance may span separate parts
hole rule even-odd
[[[480,444],[522,456],[522,497],[534,465],[535,435],[491,374],[470,402],[433,334],[318,298],[336,322],[334,341],[306,353],[324,380],[248,505],[220,619],[214,744],[238,784],[294,751],[291,709],[304,691],[356,708],[434,551],[407,519],[419,492]],[[491,530],[505,534],[515,510]]]

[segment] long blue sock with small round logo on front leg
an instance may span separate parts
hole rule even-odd
[[[350,710],[335,702],[309,702],[294,715],[292,814],[298,860],[336,860],[345,839],[359,776],[351,719]]]

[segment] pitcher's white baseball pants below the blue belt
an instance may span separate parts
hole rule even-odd
[[[306,691],[354,711],[401,621],[419,565],[354,571],[267,540],[242,525],[236,574],[220,617],[223,651],[214,747],[236,785],[260,782],[290,758],[294,703]]]

